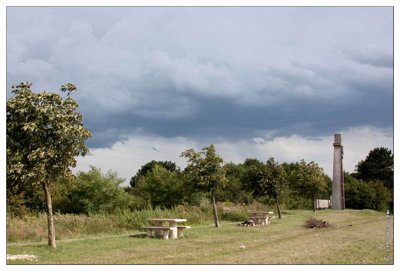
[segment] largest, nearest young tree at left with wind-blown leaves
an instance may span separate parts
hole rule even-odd
[[[70,97],[74,84],[61,86],[67,98],[57,93],[30,90],[28,82],[13,85],[15,97],[6,103],[7,178],[15,187],[19,182],[42,186],[46,198],[48,244],[54,249],[50,183],[72,178],[68,167],[76,167],[75,156],[89,149],[84,141],[92,134],[82,126],[83,115],[74,112],[78,103]]]

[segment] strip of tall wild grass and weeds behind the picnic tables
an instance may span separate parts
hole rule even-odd
[[[220,220],[243,221],[246,211],[272,211],[273,208],[260,202],[250,205],[218,203]],[[115,213],[89,213],[88,215],[54,213],[56,240],[85,237],[96,234],[122,234],[139,230],[139,227],[153,225],[146,218],[187,219],[180,225],[201,225],[214,220],[214,211],[209,201],[199,206],[178,205],[170,209],[148,207],[144,210],[120,210]],[[167,224],[166,224],[167,225]],[[46,241],[48,235],[47,215],[12,217],[7,214],[7,243]]]

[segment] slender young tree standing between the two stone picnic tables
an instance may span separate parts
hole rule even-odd
[[[187,149],[179,157],[189,158],[187,160],[189,164],[183,173],[192,180],[194,188],[204,192],[211,192],[215,226],[220,227],[215,204],[215,191],[218,188],[225,187],[228,182],[225,177],[226,169],[221,166],[224,163],[224,159],[215,154],[214,144],[204,147],[202,150],[202,152],[196,152],[194,149]],[[205,154],[206,157],[203,158],[202,154]]]

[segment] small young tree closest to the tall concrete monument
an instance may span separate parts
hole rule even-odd
[[[301,159],[299,169],[294,171],[290,176],[290,179],[294,183],[296,193],[303,197],[312,199],[314,212],[314,199],[320,196],[327,187],[323,172],[324,169],[318,167],[318,163],[311,161],[306,164],[304,159]]]

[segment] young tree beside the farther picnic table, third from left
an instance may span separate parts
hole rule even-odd
[[[278,197],[288,188],[286,177],[282,165],[270,157],[265,164],[250,167],[242,179],[242,185],[246,190],[252,190],[254,197],[268,195],[274,198],[281,218]]]

